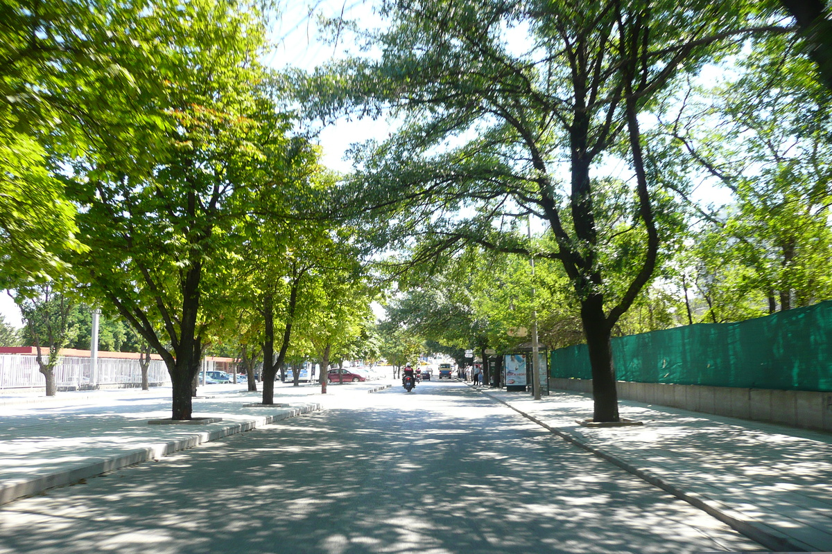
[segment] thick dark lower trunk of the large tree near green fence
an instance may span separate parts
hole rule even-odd
[[[590,295],[581,302],[581,321],[587,336],[592,368],[593,421],[620,421],[616,373],[612,366],[612,329],[607,325],[603,299]]]

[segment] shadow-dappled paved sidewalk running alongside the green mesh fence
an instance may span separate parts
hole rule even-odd
[[[773,552],[832,552],[832,435],[630,400],[643,426],[587,428],[590,395],[480,390]]]

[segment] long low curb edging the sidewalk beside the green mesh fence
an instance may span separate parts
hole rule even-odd
[[[787,537],[786,535],[777,531],[776,529],[772,529],[771,527],[765,525],[765,523],[757,522],[754,519],[749,518],[744,514],[735,511],[730,506],[726,506],[725,503],[721,503],[718,500],[708,498],[706,495],[703,494],[691,493],[690,491],[686,491],[680,485],[670,483],[666,479],[658,477],[656,474],[651,473],[649,470],[638,468],[635,465],[627,462],[626,460],[617,457],[615,454],[608,452],[606,449],[598,448],[597,446],[592,446],[592,444],[589,444],[587,439],[583,437],[581,434],[572,434],[572,432],[570,431],[557,429],[557,427],[552,427],[551,425],[545,423],[541,419],[538,419],[532,414],[527,414],[526,412],[522,411],[521,409],[518,409],[516,406],[513,406],[506,400],[503,400],[491,394],[487,390],[480,390],[480,392],[482,392],[483,395],[488,396],[488,398],[491,398],[492,400],[497,400],[499,403],[505,404],[509,408],[516,411],[518,414],[521,414],[523,417],[531,420],[535,424],[540,425],[542,428],[547,429],[553,434],[557,434],[559,437],[561,437],[568,443],[575,444],[576,446],[585,449],[588,452],[591,452],[600,458],[607,460],[607,462],[617,465],[619,468],[624,469],[626,472],[632,473],[633,475],[643,479],[647,483],[661,488],[667,493],[671,493],[676,498],[680,498],[681,500],[684,500],[686,503],[691,504],[691,506],[697,507],[701,509],[703,512],[706,512],[709,515],[716,517],[716,519],[726,523],[726,525],[732,527],[733,529],[735,529],[735,531],[740,532],[741,534],[745,535],[745,537],[750,538],[752,541],[759,542],[764,547],[769,548],[772,552],[812,552],[813,550],[812,547],[805,544],[804,542],[797,541],[792,537]]]

